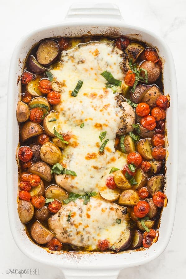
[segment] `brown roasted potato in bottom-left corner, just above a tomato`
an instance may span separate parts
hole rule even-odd
[[[45,244],[54,237],[54,234],[38,221],[33,223],[30,233],[33,239],[39,244]]]

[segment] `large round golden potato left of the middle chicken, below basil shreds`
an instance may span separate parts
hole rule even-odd
[[[61,158],[60,149],[50,141],[44,143],[40,150],[40,157],[42,161],[49,165],[55,165]]]

